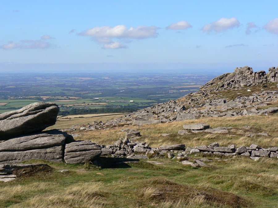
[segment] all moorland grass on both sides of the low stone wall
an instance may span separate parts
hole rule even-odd
[[[75,122],[81,119],[79,123],[86,124],[92,119],[105,120],[103,118],[77,118]],[[192,123],[207,123],[212,128],[231,126],[234,132],[177,134],[183,124]],[[63,125],[61,120],[55,128]],[[75,133],[83,134],[77,139],[112,144],[124,137],[122,128],[138,129],[142,135],[141,141],[148,142],[152,147],[176,143],[194,147],[215,141],[222,146],[235,144],[237,147],[252,143],[262,147],[278,145],[277,114],[202,118]],[[261,132],[267,132],[270,136],[245,136]],[[170,135],[162,137],[162,133]],[[48,162],[54,168],[50,173],[0,182],[0,207],[277,207],[277,159],[260,158],[253,161],[243,156],[202,154],[190,157],[190,160],[208,158],[213,161],[207,162],[210,166],[202,168],[184,166],[166,157],[147,160],[160,164],[146,160],[119,163],[122,159],[101,158],[99,167]],[[61,169],[69,171],[57,172]]]

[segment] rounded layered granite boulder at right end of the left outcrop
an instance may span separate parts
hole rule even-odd
[[[91,162],[101,155],[101,148],[91,141],[76,141],[65,145],[64,160],[69,164]]]

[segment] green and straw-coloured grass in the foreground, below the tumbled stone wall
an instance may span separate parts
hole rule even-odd
[[[192,156],[195,159],[203,155]],[[0,207],[275,207],[277,160],[210,155],[192,168],[162,158],[100,166],[49,163],[53,171],[0,182]],[[110,162],[108,160],[113,160]],[[153,164],[147,161],[158,161]],[[34,162],[34,161],[32,161]],[[105,164],[102,164],[105,163]],[[107,163],[109,164],[107,166]],[[67,172],[58,172],[68,169]]]

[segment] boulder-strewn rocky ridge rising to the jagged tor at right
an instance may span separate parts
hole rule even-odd
[[[265,88],[269,90],[265,90]],[[250,88],[250,89],[249,89]],[[251,89],[254,89],[252,92]],[[94,130],[121,125],[143,125],[196,119],[204,116],[244,116],[278,112],[268,107],[278,100],[278,67],[269,72],[253,72],[251,67],[236,68],[220,75],[177,100],[170,100],[120,118],[100,121],[89,126],[74,126],[72,130]],[[277,106],[277,105],[276,105]],[[71,129],[67,129],[70,131]]]

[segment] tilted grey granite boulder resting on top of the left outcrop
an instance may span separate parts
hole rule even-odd
[[[59,107],[55,103],[37,102],[19,110],[0,114],[0,140],[41,132],[56,122]]]

